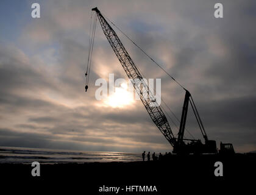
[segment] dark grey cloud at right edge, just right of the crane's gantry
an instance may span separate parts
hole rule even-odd
[[[256,96],[229,98],[223,101],[212,101],[211,104],[199,104],[203,109],[202,115],[209,127],[224,127],[232,132],[242,129],[253,131],[256,129],[254,113],[256,110]],[[215,115],[218,113],[218,115]],[[213,120],[214,119],[214,120]],[[216,122],[215,122],[216,121]],[[248,137],[249,138],[249,137]],[[255,139],[255,138],[254,138]]]

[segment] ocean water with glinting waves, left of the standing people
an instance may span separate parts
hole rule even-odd
[[[87,163],[141,161],[141,154],[125,152],[69,151],[29,147],[0,147],[0,163]]]

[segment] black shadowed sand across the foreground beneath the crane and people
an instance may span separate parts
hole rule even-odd
[[[215,162],[223,163],[223,177],[216,177]],[[168,161],[139,161],[130,163],[83,163],[40,165],[40,177],[31,176],[31,165],[0,164],[1,187],[16,183],[28,186],[40,186],[46,190],[49,186],[60,191],[80,191],[82,194],[101,193],[101,186],[130,185],[157,186],[155,192],[119,192],[118,194],[170,194],[171,189],[182,191],[201,191],[205,184],[218,191],[235,189],[236,185],[252,186],[255,182],[256,155],[236,154],[229,157],[219,155],[177,157],[172,155]],[[243,183],[243,185],[242,185]],[[188,190],[189,189],[189,190]],[[77,194],[77,193],[75,193]]]

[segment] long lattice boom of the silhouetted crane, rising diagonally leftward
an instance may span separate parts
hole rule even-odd
[[[106,19],[104,18],[104,16],[102,16],[101,12],[99,12],[97,7],[93,8],[92,10],[97,13],[99,23],[101,24],[102,30],[105,36],[107,37],[108,42],[112,46],[112,49],[116,54],[116,57],[123,66],[124,71],[126,72],[130,81],[133,83],[133,87],[140,96],[140,99],[144,107],[146,108],[147,112],[149,113],[149,116],[151,117],[155,125],[158,127],[160,132],[163,133],[165,138],[174,147],[176,145],[176,138],[172,134],[171,127],[169,126],[169,122],[165,114],[163,113],[162,108],[160,107],[160,105],[156,104],[155,98],[151,91],[149,90],[147,83],[144,81],[134,62],[130,58],[130,55],[124,48],[123,43],[121,43],[121,41],[119,40],[118,35],[116,35],[116,32],[107,23]],[[145,94],[147,94],[147,96],[145,96]]]

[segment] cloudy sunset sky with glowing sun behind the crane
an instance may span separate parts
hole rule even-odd
[[[172,150],[140,100],[127,99],[124,89],[96,100],[96,79],[113,73],[127,80],[99,23],[85,93],[90,15],[98,7],[190,91],[209,140],[256,151],[255,1],[36,1],[40,18],[32,18],[34,2],[0,2],[0,146]],[[224,18],[214,17],[216,2]],[[161,79],[163,101],[180,118],[185,92],[116,33],[146,79]],[[161,105],[177,135],[178,122]],[[187,130],[202,139],[191,108]]]

